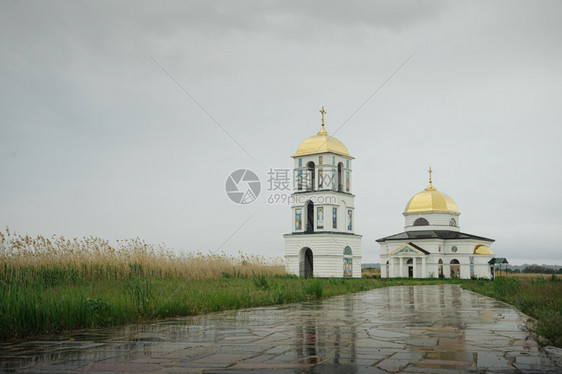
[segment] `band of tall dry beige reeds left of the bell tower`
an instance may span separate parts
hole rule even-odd
[[[184,278],[248,278],[284,274],[280,259],[201,252],[175,254],[164,245],[143,239],[118,240],[115,245],[97,237],[67,239],[53,235],[32,237],[0,231],[0,279],[24,283],[64,283],[75,280]]]

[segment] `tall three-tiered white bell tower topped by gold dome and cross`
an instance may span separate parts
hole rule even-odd
[[[289,274],[301,277],[361,277],[361,235],[355,234],[353,157],[322,128],[297,148],[294,191],[290,198],[292,232],[285,238]]]

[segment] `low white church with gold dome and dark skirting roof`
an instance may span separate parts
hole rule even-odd
[[[455,201],[429,185],[404,210],[404,232],[378,239],[381,277],[494,278],[493,239],[460,231]]]

